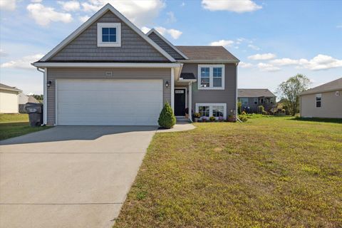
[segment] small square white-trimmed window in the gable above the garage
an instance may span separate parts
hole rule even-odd
[[[98,47],[120,47],[121,24],[98,23]]]

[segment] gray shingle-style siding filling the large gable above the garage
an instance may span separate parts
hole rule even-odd
[[[97,24],[121,23],[121,47],[98,47]],[[49,61],[168,61],[112,12],[104,14]]]

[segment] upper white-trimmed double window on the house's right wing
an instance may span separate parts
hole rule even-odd
[[[198,65],[199,90],[224,90],[224,65]]]

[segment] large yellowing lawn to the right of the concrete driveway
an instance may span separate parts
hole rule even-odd
[[[292,118],[158,133],[114,227],[342,227],[342,125]]]

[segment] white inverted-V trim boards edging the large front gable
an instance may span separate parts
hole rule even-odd
[[[85,31],[86,28],[88,28],[88,26],[93,24],[93,22],[98,20],[101,16],[103,16],[103,14],[105,14],[108,11],[111,11],[113,14],[115,14],[115,16],[118,16],[118,18],[121,19],[130,28],[132,28],[133,31],[135,31],[135,33],[138,33],[138,35],[141,36],[143,39],[145,39],[145,41],[147,41],[147,43],[149,43],[153,48],[155,48],[157,51],[159,51],[162,54],[162,56],[165,56],[165,58],[167,58],[171,62],[176,61],[175,58],[173,58],[172,56],[170,56],[169,53],[167,53],[165,50],[160,48],[160,46],[158,46],[157,43],[152,41],[137,26],[135,26],[132,22],[130,22],[127,18],[125,18],[125,16],[123,16],[123,14],[120,14],[120,12],[117,11],[110,4],[106,4],[105,6],[103,6],[103,8],[100,9],[98,12],[96,12],[96,14],[91,16],[90,19],[88,19],[88,21],[83,23],[80,27],[78,27],[75,31],[73,31],[73,33],[71,33],[68,37],[66,37],[63,41],[61,41],[61,43],[59,43],[55,48],[53,48],[45,56],[43,56],[43,58],[41,58],[40,61],[48,61],[49,58],[53,57],[56,53],[58,53],[58,51],[61,51],[61,49],[63,47],[68,45],[68,43],[73,41],[74,38],[76,38],[79,34],[81,34],[83,31]]]

